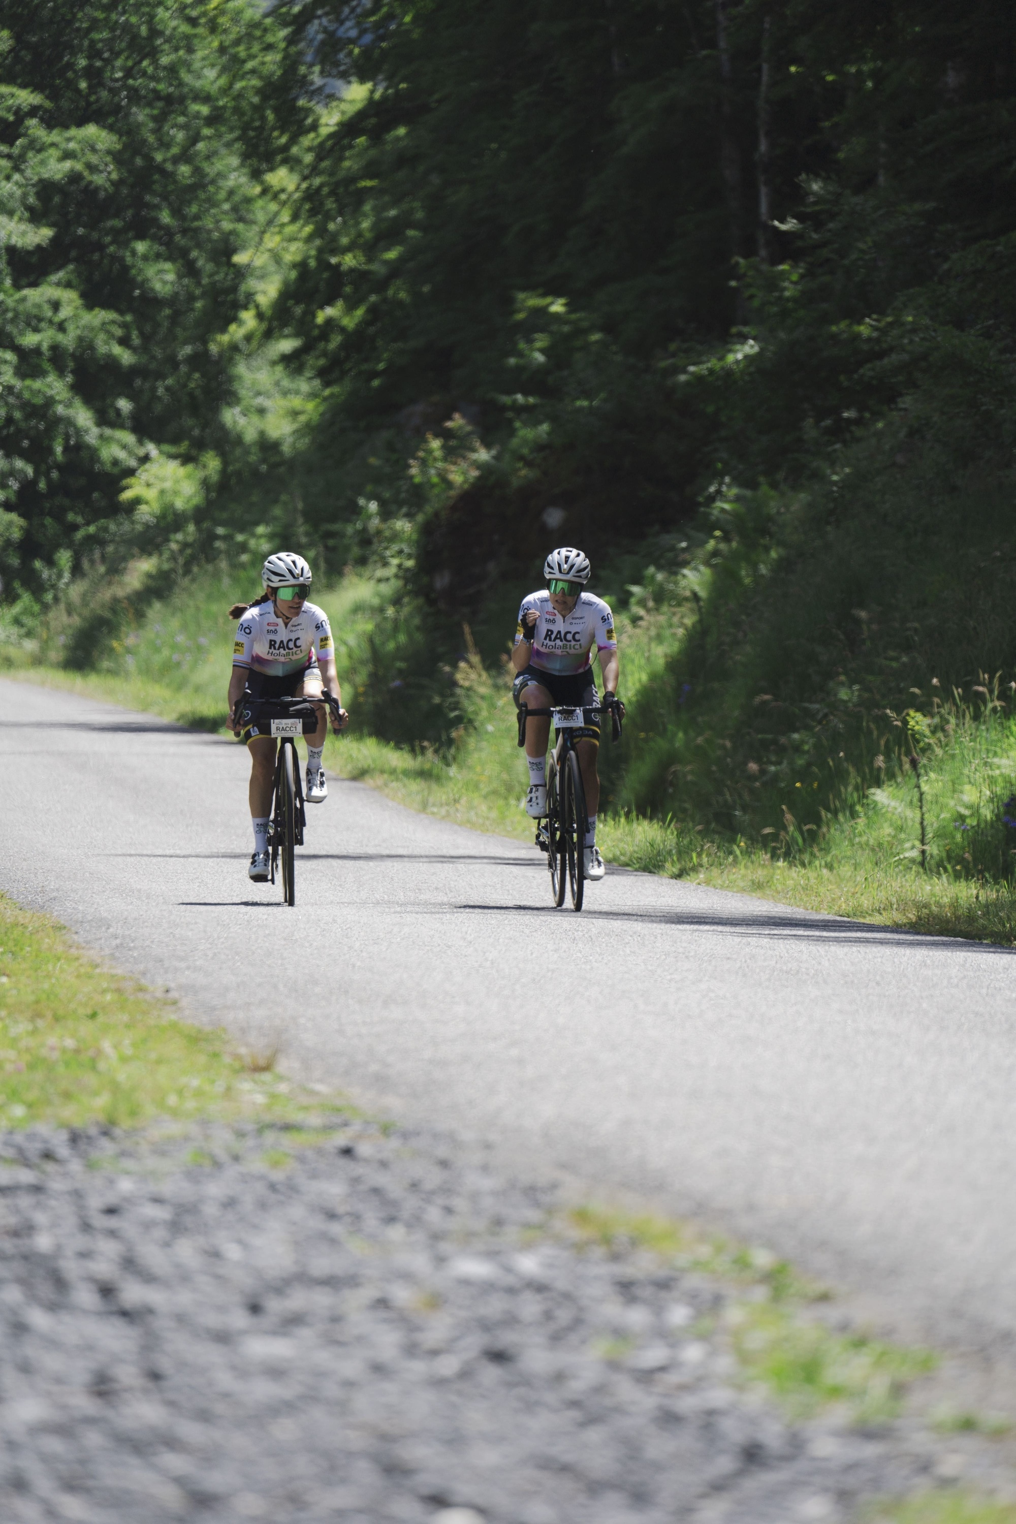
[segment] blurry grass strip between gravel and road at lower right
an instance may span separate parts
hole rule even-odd
[[[728,1309],[725,1329],[742,1378],[765,1387],[795,1420],[839,1408],[855,1423],[883,1423],[899,1413],[908,1385],[937,1364],[931,1350],[827,1327],[809,1309],[829,1292],[765,1250],[670,1218],[589,1205],[567,1215],[567,1231],[580,1244],[612,1253],[641,1248],[679,1269],[733,1282],[745,1300]]]

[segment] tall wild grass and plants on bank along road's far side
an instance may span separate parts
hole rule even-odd
[[[122,626],[88,674],[34,666],[35,680],[78,683],[186,724],[219,728],[232,657],[225,611],[254,585],[250,568],[193,578]],[[532,838],[506,658],[484,664],[468,628],[457,661],[436,658],[414,610],[395,607],[385,584],[346,578],[315,590],[315,600],[332,619],[353,715],[349,736],[329,738],[326,764],[416,809]],[[856,759],[844,759],[836,809],[815,808],[818,780],[806,774],[789,785],[791,803],[774,824],[762,824],[762,812],[745,817],[740,828],[722,829],[708,815],[696,818],[687,805],[682,812],[652,812],[632,803],[638,792],[632,779],[647,751],[666,745],[670,735],[664,724],[655,733],[646,728],[653,704],[663,704],[672,663],[695,632],[679,617],[667,617],[666,608],[644,604],[620,616],[618,629],[631,709],[623,744],[600,748],[599,841],[608,861],[887,925],[1016,939],[1011,686],[981,681],[966,693],[943,696],[940,687],[912,693],[922,709],[879,716],[888,744],[871,757],[873,777],[855,767]],[[47,642],[34,652],[0,645],[0,660],[9,668],[49,655],[52,663],[62,649],[59,634],[53,622]],[[708,782],[711,765],[708,745],[701,751],[696,789]],[[908,764],[911,756],[917,771]]]

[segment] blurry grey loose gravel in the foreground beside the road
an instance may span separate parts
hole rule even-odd
[[[947,1471],[789,1426],[693,1327],[730,1288],[554,1236],[548,1187],[363,1122],[279,1146],[0,1134],[3,1524],[836,1524]]]

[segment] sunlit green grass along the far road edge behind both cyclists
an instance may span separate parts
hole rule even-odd
[[[52,658],[59,649],[59,637],[50,629],[38,649],[0,646],[0,671],[225,735],[230,675],[225,611],[232,600],[250,596],[248,584],[247,573],[192,579],[186,593],[151,604],[108,642],[99,669],[75,672],[46,664],[41,658],[47,654]],[[329,738],[326,765],[413,809],[532,840],[522,811],[527,777],[515,744],[510,674],[498,671],[497,663],[494,669],[484,668],[475,652],[458,663],[454,690],[465,718],[448,747],[381,741],[364,728],[366,721],[376,721],[382,704],[372,683],[384,687],[388,668],[402,669],[398,642],[408,637],[402,631],[393,651],[379,652],[376,626],[388,629],[391,610],[378,584],[347,578],[317,597],[334,622],[344,701],[353,715],[346,738]],[[646,710],[646,695],[664,681],[681,631],[678,625],[666,625],[660,614],[641,622],[621,619],[618,628],[625,643],[623,686],[637,716]],[[626,728],[623,747],[602,748],[603,855],[621,867],[807,910],[940,936],[1016,943],[1016,890],[1007,876],[1014,861],[1010,841],[1016,843],[1016,831],[1002,820],[1005,800],[1016,792],[1011,700],[1001,704],[982,693],[969,703],[931,704],[934,713],[923,722],[920,738],[929,872],[922,872],[920,864],[914,779],[909,773],[894,774],[891,759],[880,774],[880,788],[865,791],[858,785],[848,791],[842,811],[826,817],[818,831],[798,828],[804,808],[797,817],[789,812],[780,832],[763,828],[754,838],[621,809],[620,802],[631,791],[631,768],[638,768],[643,751],[658,744],[658,738],[637,728],[637,718]]]

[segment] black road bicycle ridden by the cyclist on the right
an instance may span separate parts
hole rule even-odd
[[[621,739],[623,709],[611,709],[611,739]],[[554,724],[554,750],[547,760],[547,814],[536,826],[536,846],[547,853],[550,888],[554,905],[565,902],[565,890],[571,890],[571,908],[582,910],[585,892],[585,832],[586,808],[582,768],[576,751],[574,732],[596,724],[603,715],[599,704],[582,709],[556,704],[551,709],[530,709],[519,704],[518,744],[526,745],[526,724],[538,715],[550,715]]]

